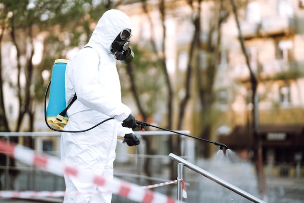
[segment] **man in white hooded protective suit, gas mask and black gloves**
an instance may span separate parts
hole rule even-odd
[[[124,137],[129,146],[138,145],[133,134],[136,120],[131,109],[121,102],[120,81],[116,60],[132,61],[129,48],[131,34],[130,18],[119,10],[106,11],[88,42],[66,68],[67,105],[76,94],[77,99],[68,109],[65,131],[81,131],[109,119],[92,130],[61,136],[63,163],[113,178],[113,162],[117,136]],[[91,180],[78,180],[65,175],[66,196],[64,203],[111,203],[111,192],[90,195],[89,192],[104,191]],[[79,191],[81,195],[68,195]],[[87,193],[86,193],[87,192]]]

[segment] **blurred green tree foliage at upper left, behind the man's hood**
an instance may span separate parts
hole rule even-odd
[[[0,1],[0,29],[7,31],[8,36],[12,32],[11,36],[14,36],[14,38],[6,37],[5,40],[14,40],[14,43],[17,44],[16,47],[19,52],[16,56],[18,61],[21,57],[26,60],[26,63],[21,64],[18,71],[32,74],[25,74],[26,80],[31,81],[31,83],[16,89],[16,92],[21,92],[22,101],[20,101],[20,104],[31,105],[34,100],[43,101],[49,81],[44,81],[41,75],[42,71],[48,70],[51,77],[55,59],[66,58],[69,50],[74,47],[81,47],[87,42],[95,23],[106,10],[103,2],[99,1],[99,4],[97,4],[95,0]],[[31,52],[33,51],[30,48],[34,49],[34,42],[37,39],[40,41],[41,36],[44,39],[42,42],[42,62],[33,65],[30,64],[32,63]],[[17,66],[12,66],[12,68],[17,68]],[[1,81],[3,82],[3,80]],[[15,87],[16,82],[14,81],[16,80],[7,82]],[[32,86],[34,86],[34,92],[31,93],[34,93],[34,95],[31,95],[31,101],[23,101],[27,98],[25,93],[29,92],[27,90]],[[34,107],[22,106],[19,111],[32,108],[34,109]],[[2,110],[0,109],[0,111]],[[1,116],[2,114],[0,114]]]

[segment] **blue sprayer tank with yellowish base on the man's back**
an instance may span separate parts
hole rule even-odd
[[[68,123],[65,115],[62,121],[56,119],[57,115],[66,108],[65,74],[68,60],[56,59],[52,69],[49,105],[47,107],[47,121],[60,129]]]

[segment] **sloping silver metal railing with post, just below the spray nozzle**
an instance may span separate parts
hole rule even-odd
[[[170,153],[169,154],[169,158],[170,159],[173,159],[174,161],[178,162],[178,172],[177,174],[179,174],[179,179],[182,178],[182,174],[183,174],[183,167],[181,167],[182,165],[185,165],[187,168],[189,169],[192,169],[193,171],[205,176],[206,178],[220,184],[221,186],[224,186],[228,189],[230,189],[231,191],[234,191],[235,193],[241,195],[242,197],[254,202],[254,203],[265,203],[264,201],[254,197],[253,195],[249,194],[248,192],[245,192],[244,190],[220,179],[219,177],[207,172],[206,170],[204,169],[201,169],[199,167],[197,167],[196,165],[194,164],[191,164],[190,162],[186,161],[185,159],[175,155],[174,153]],[[182,164],[182,165],[181,165]],[[178,201],[182,201],[182,185],[180,183],[180,181],[178,182]]]

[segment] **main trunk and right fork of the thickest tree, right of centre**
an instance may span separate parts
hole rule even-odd
[[[201,13],[201,8],[199,8]],[[210,21],[210,30],[208,31],[208,40],[206,41],[205,47],[200,47],[199,50],[204,50],[206,54],[206,67],[201,67],[200,55],[197,57],[197,73],[196,81],[198,83],[199,99],[202,106],[202,117],[200,122],[202,123],[202,132],[200,137],[203,139],[210,140],[213,126],[213,115],[212,108],[215,101],[215,93],[213,85],[215,82],[215,76],[218,68],[218,56],[220,54],[220,26],[227,15],[223,15],[227,11],[223,7],[223,0],[220,0],[220,4],[215,4],[213,17]],[[216,40],[214,40],[216,36]],[[204,157],[210,156],[210,143],[203,142],[199,145],[201,149],[198,149],[199,154]]]

